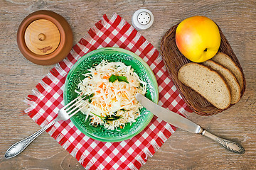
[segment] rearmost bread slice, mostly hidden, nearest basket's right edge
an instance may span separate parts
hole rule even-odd
[[[232,72],[235,75],[235,78],[238,79],[238,83],[240,85],[240,88],[242,89],[243,87],[242,72],[239,69],[239,67],[235,64],[235,62],[233,62],[233,60],[228,55],[225,55],[223,52],[218,52],[217,55],[215,55],[211,60],[229,69],[230,72]]]

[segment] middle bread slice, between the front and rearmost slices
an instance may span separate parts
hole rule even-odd
[[[215,72],[218,72],[218,74],[221,74],[225,81],[228,84],[228,87],[230,89],[230,94],[231,94],[231,104],[238,103],[240,100],[240,86],[238,84],[237,79],[235,78],[234,74],[230,72],[229,69],[226,69],[222,65],[213,62],[212,60],[208,60],[206,62],[203,62],[203,65],[206,65],[213,69]]]

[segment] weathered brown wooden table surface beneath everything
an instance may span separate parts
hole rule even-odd
[[[0,169],[84,169],[48,133],[38,137],[18,157],[4,159],[14,142],[31,135],[39,126],[21,111],[23,99],[54,67],[26,60],[18,50],[18,26],[29,13],[41,9],[63,16],[73,30],[75,45],[104,13],[118,13],[132,24],[132,14],[149,9],[155,17],[148,30],[140,31],[160,50],[161,37],[171,26],[189,16],[208,16],[220,26],[245,73],[247,89],[232,108],[218,115],[188,115],[215,135],[239,142],[245,154],[233,154],[201,135],[177,130],[149,157],[142,169],[256,169],[256,1],[0,1]]]

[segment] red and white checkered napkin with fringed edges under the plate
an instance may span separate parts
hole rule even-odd
[[[159,105],[181,115],[191,112],[181,99],[169,78],[159,52],[137,30],[116,13],[109,20],[103,16],[73,47],[68,57],[50,70],[28,95],[30,105],[25,113],[38,125],[52,121],[63,107],[63,89],[70,67],[87,52],[102,47],[121,47],[142,57],[153,70],[159,85]],[[139,169],[176,128],[154,118],[151,123],[130,140],[122,142],[99,142],[82,134],[70,120],[55,123],[48,133],[85,167],[85,169]]]

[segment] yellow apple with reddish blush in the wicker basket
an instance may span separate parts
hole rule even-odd
[[[192,16],[178,24],[176,45],[188,60],[205,62],[218,52],[220,31],[210,18]]]

